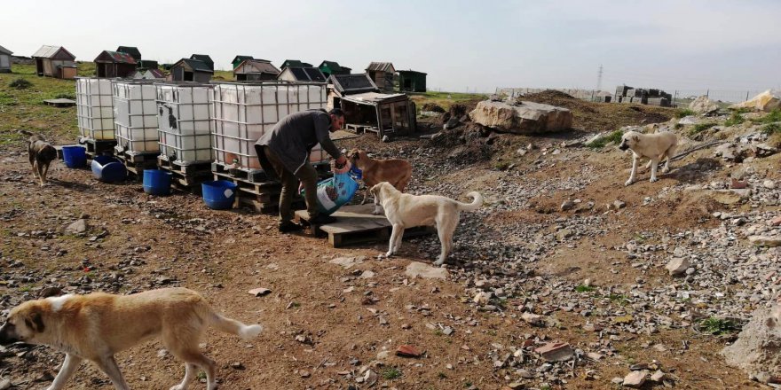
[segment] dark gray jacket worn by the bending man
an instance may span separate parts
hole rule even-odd
[[[257,146],[268,146],[280,157],[285,168],[296,174],[298,169],[309,162],[309,153],[318,143],[335,159],[342,155],[331,141],[329,129],[331,129],[331,117],[323,111],[308,110],[291,113],[257,140],[256,149],[260,150]],[[263,166],[264,157],[261,155],[258,157]],[[268,170],[265,167],[264,169]]]

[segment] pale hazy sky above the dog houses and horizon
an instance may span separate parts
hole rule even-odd
[[[35,0],[0,13],[0,45],[30,56],[62,45],[78,60],[137,46],[175,62],[237,54],[354,73],[371,61],[428,74],[430,90],[596,89],[686,94],[781,89],[781,1]]]

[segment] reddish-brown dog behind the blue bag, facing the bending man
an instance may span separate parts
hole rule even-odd
[[[367,188],[376,184],[388,182],[398,191],[404,192],[409,179],[412,177],[412,164],[407,160],[389,159],[375,160],[368,156],[367,152],[353,149],[347,153],[353,166],[363,172],[363,183]],[[364,195],[361,205],[366,203],[367,194]]]

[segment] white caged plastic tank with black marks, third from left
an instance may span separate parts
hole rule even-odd
[[[196,82],[155,83],[160,153],[189,165],[211,162],[213,86]]]

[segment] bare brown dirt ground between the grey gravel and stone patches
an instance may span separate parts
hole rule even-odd
[[[628,119],[620,120],[626,124],[659,121],[671,115],[646,107],[611,106],[619,107],[614,113],[617,117],[628,115]],[[610,118],[583,122],[582,118],[604,116],[600,108],[594,110],[583,113],[585,116],[576,115],[576,127],[588,123],[593,128],[590,131],[614,129],[616,121]],[[415,180],[464,183],[464,191],[489,191],[500,178],[525,185],[543,177],[579,177],[584,175],[585,165],[589,171],[598,171],[599,176],[582,191],[547,193],[533,199],[533,207],[495,214],[488,221],[498,231],[509,223],[553,226],[557,219],[568,217],[558,208],[564,199],[590,199],[600,207],[623,199],[627,207],[610,214],[606,234],[582,238],[572,247],[561,246],[554,255],[536,263],[533,275],[551,284],[559,279],[591,278],[597,285],[629,287],[638,277],[638,270],[625,260],[625,253],[611,248],[640,230],[687,230],[713,223],[706,216],[718,206],[700,199],[667,199],[654,208],[642,204],[647,193],[677,183],[729,176],[721,164],[694,173],[677,169],[661,176],[657,183],[643,179],[631,187],[623,186],[629,160],[613,150],[572,150],[553,165],[531,168],[542,153],[567,137],[518,138],[517,144],[533,142],[536,146],[533,152],[513,161],[520,169],[530,167],[519,175],[510,177],[491,161],[467,161],[454,171],[443,175],[423,173]],[[427,147],[428,142],[405,138],[383,144],[374,136],[361,136],[341,145],[393,154]],[[707,156],[707,152],[692,154],[679,166],[697,164]],[[250,342],[209,331],[203,350],[217,361],[217,378],[225,389],[364,389],[369,387],[357,384],[353,378],[364,365],[379,374],[375,388],[503,389],[520,379],[514,370],[493,368],[489,355],[493,344],[518,345],[530,335],[584,349],[602,342],[596,332],[583,329],[586,319],[577,314],[559,311],[559,326],[533,327],[514,311],[523,304],[522,298],[509,299],[507,310],[497,315],[466,303],[472,297],[459,282],[406,277],[405,269],[411,261],[432,261],[418,247],[420,241],[405,243],[398,257],[381,261],[376,256],[386,243],[335,249],[327,240],[313,238],[308,232],[281,235],[273,215],[243,209],[209,210],[200,198],[182,192],[151,197],[139,183],[99,183],[88,170],[68,169],[60,162],[52,166],[51,183],[41,188],[32,180],[21,145],[5,146],[0,157],[0,268],[4,274],[0,277],[0,302],[4,306],[0,308],[34,298],[43,287],[51,285],[72,291],[109,292],[137,292],[167,285],[191,288],[225,315],[264,326],[260,337]],[[777,167],[778,156],[773,159],[768,164]],[[87,218],[87,234],[76,237],[59,233],[79,217]],[[329,263],[335,257],[361,257],[363,261],[343,269]],[[373,271],[374,277],[361,277],[366,270]],[[655,272],[646,276],[651,283],[668,283],[666,275]],[[11,285],[9,278],[14,280]],[[248,290],[256,287],[272,292],[262,297],[249,295]],[[543,307],[558,304],[552,296],[540,300]],[[454,332],[446,335],[440,325],[452,327]],[[304,336],[299,338],[304,342],[296,336]],[[748,381],[745,373],[724,365],[718,355],[723,339],[690,329],[621,334],[619,339],[619,354],[599,362],[580,361],[574,370],[562,374],[563,383],[550,387],[615,388],[611,378],[626,375],[628,365],[653,360],[678,378],[676,388],[760,386]],[[682,340],[688,341],[685,347]],[[424,355],[417,359],[393,355],[404,344],[417,347]],[[660,352],[649,347],[655,345],[667,349]],[[390,356],[378,359],[385,350]],[[12,347],[7,353],[0,350],[0,377],[10,378],[19,388],[43,389],[56,374],[61,359],[61,354],[47,347]],[[122,352],[117,361],[132,388],[169,388],[184,373],[183,364],[162,351],[156,341]],[[596,376],[587,375],[592,370]],[[529,380],[526,388],[535,386],[536,382]],[[651,387],[649,382],[643,388]],[[111,385],[92,364],[83,363],[67,388],[107,389]]]

